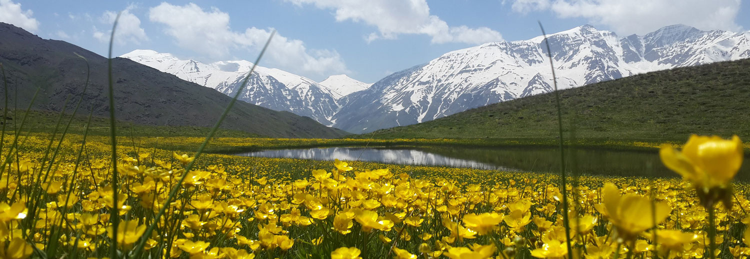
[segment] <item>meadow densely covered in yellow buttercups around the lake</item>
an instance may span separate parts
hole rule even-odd
[[[121,137],[113,191],[109,139],[53,135],[4,137],[4,257],[108,257],[115,207],[118,257],[708,257],[708,210],[680,179],[571,177],[566,228],[556,174],[220,154],[185,173],[193,152]],[[322,140],[276,141],[254,144]],[[722,258],[750,254],[748,185],[732,186],[733,206],[715,204]]]

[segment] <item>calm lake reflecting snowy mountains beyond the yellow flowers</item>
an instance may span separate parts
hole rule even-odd
[[[519,172],[559,172],[559,149],[547,147],[471,148],[471,147],[328,147],[278,149],[245,152],[236,155],[265,158],[303,158],[315,160],[374,161],[386,164],[470,167]],[[566,149],[568,171],[589,175],[661,176],[676,173],[661,164],[657,152],[609,149]],[[745,159],[747,161],[748,159]],[[750,179],[746,162],[737,178]]]

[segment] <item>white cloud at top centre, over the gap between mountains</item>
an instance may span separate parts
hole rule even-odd
[[[310,4],[320,9],[335,10],[335,18],[375,26],[378,33],[365,36],[371,42],[379,38],[394,39],[400,34],[428,35],[432,43],[460,42],[484,44],[502,41],[502,35],[487,27],[471,29],[448,26],[440,17],[430,14],[426,0],[287,0],[295,5]]]

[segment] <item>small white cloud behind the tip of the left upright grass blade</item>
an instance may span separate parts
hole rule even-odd
[[[113,11],[105,11],[101,15],[101,23],[112,26],[117,18],[117,13]],[[94,38],[101,42],[110,42],[110,35],[112,30],[107,32],[100,32],[96,28],[94,29]],[[141,44],[143,41],[148,41],[148,36],[145,35],[145,31],[140,26],[140,19],[135,14],[130,13],[130,7],[122,11],[120,14],[120,20],[117,21],[117,29],[115,29],[115,43],[124,45],[127,43]]]

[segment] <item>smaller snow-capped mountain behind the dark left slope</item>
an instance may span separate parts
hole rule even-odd
[[[174,74],[182,80],[216,89],[229,96],[234,96],[245,75],[253,67],[253,63],[245,60],[204,64],[192,59],[178,59],[169,53],[157,53],[154,50],[133,50],[121,57]],[[287,71],[257,66],[254,76],[250,77],[248,86],[240,95],[240,100],[272,110],[290,111],[300,116],[311,117],[323,125],[332,125],[331,119],[342,105],[338,100],[353,92],[352,89],[366,85],[346,78],[339,78],[331,84],[323,85]]]

